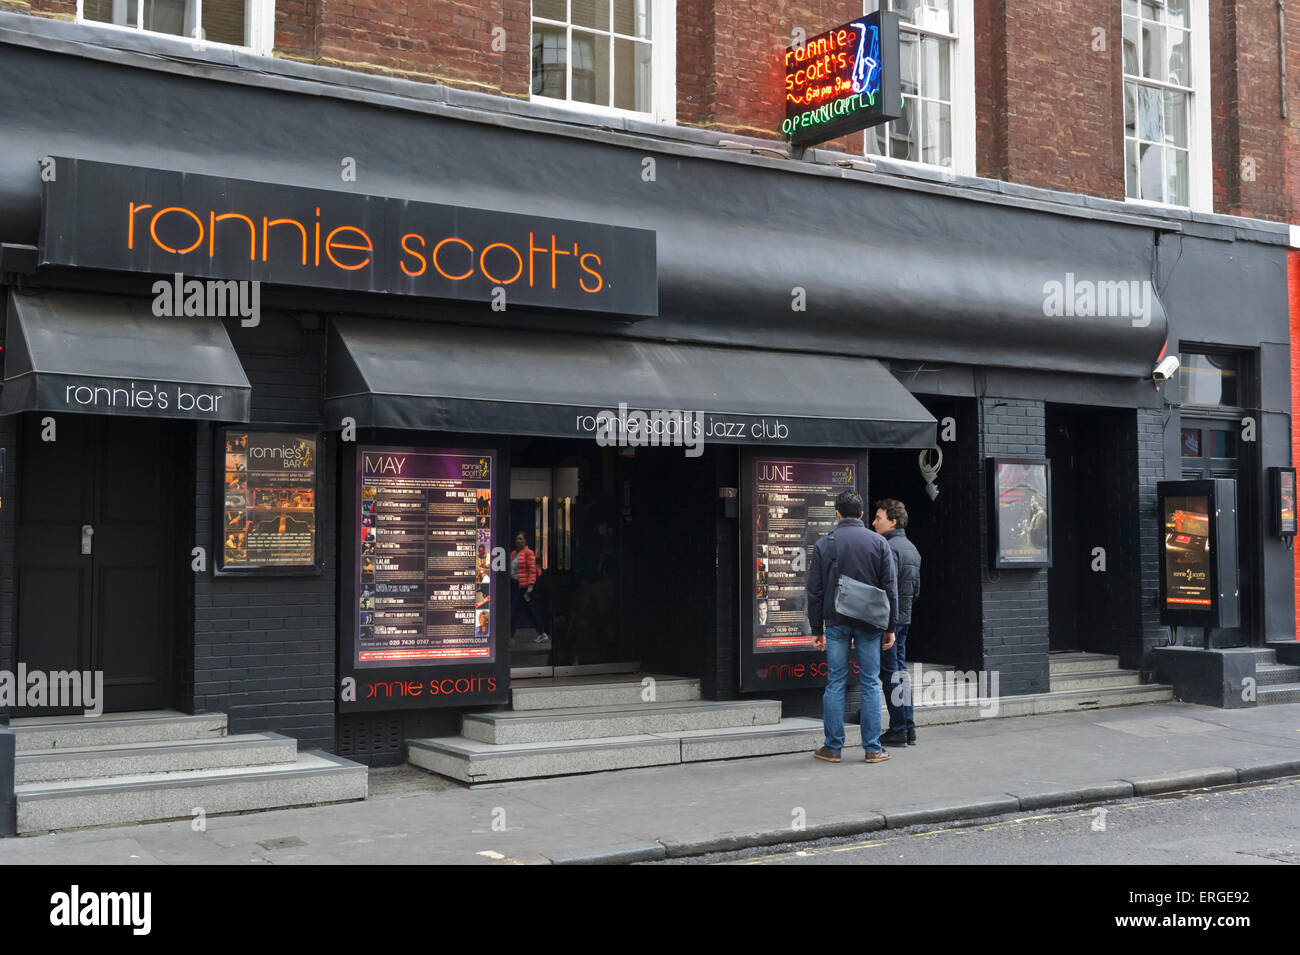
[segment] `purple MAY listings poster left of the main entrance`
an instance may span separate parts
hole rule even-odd
[[[491,451],[356,456],[356,665],[495,659]]]

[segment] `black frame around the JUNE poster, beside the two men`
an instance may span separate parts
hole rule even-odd
[[[740,453],[740,534],[738,563],[740,587],[737,594],[737,622],[740,634],[740,690],[741,693],[770,693],[774,690],[820,690],[826,686],[826,676],[814,672],[819,664],[826,663],[826,651],[820,650],[783,650],[767,654],[758,654],[754,650],[754,618],[750,612],[750,595],[758,585],[757,570],[751,559],[754,551],[754,459],[806,459],[828,460],[845,459],[857,465],[857,490],[862,495],[863,508],[870,513],[871,498],[870,473],[867,470],[867,452],[861,448],[827,448],[827,447],[763,447],[745,446]],[[774,668],[780,676],[759,677],[758,667],[771,672]],[[786,676],[788,674],[788,676]],[[849,686],[857,686],[857,676],[853,667],[849,668]]]

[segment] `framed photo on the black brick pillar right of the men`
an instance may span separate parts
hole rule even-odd
[[[1052,567],[1052,463],[1045,457],[989,457],[988,481],[993,567]]]

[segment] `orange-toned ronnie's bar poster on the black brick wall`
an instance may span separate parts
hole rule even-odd
[[[225,427],[218,573],[315,570],[317,435]]]

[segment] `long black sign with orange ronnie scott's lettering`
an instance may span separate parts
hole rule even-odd
[[[658,314],[655,234],[55,159],[40,262]],[[498,290],[504,290],[498,291]]]

